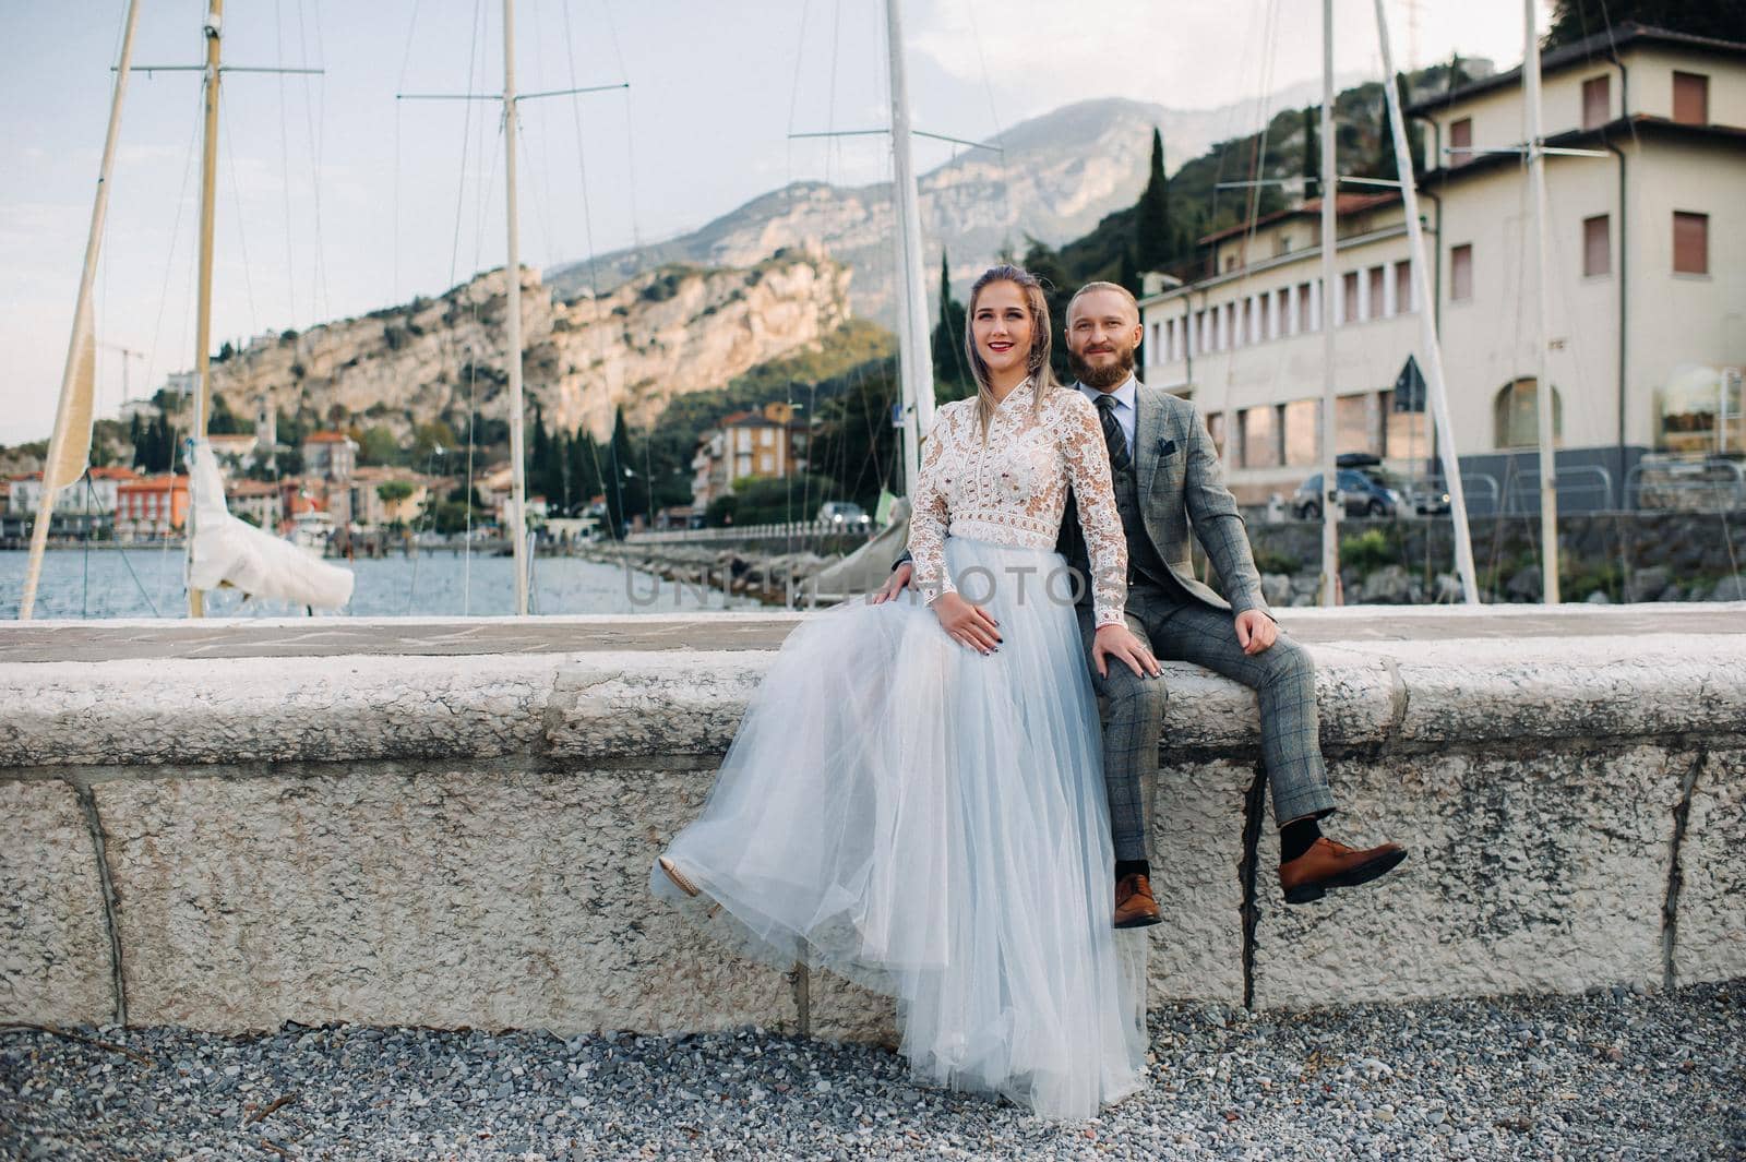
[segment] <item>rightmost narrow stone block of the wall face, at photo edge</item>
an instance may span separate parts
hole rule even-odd
[[[1704,755],[1692,787],[1673,972],[1681,982],[1746,977],[1746,750]]]

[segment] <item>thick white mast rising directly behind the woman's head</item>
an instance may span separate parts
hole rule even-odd
[[[885,0],[885,63],[890,72],[890,176],[896,208],[897,372],[903,387],[903,482],[915,496],[922,436],[934,426],[934,366],[927,351],[922,286],[922,211],[910,159],[910,87],[903,66],[901,0]]]

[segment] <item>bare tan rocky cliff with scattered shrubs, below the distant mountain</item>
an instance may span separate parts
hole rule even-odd
[[[817,345],[849,319],[849,274],[786,249],[732,269],[662,267],[595,298],[553,293],[524,269],[529,407],[597,438],[618,407],[648,424],[677,394]],[[506,318],[508,283],[491,270],[440,298],[255,340],[213,368],[213,389],[239,415],[271,407],[395,429],[449,419],[464,431],[470,398],[480,415],[508,415]]]

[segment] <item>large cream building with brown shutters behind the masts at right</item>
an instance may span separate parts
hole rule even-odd
[[[1566,508],[1627,501],[1645,454],[1741,448],[1746,363],[1746,45],[1622,24],[1543,58],[1549,375]],[[1536,269],[1521,70],[1418,103],[1451,426],[1475,511],[1535,508]],[[1337,452],[1425,471],[1423,361],[1395,194],[1339,199]],[[1318,202],[1206,239],[1215,274],[1142,302],[1145,380],[1193,396],[1245,501],[1320,464]],[[1234,419],[1227,419],[1234,417]],[[1227,440],[1229,436],[1229,440]]]

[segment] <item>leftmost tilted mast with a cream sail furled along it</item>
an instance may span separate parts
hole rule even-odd
[[[110,96],[110,124],[103,136],[103,162],[98,166],[98,192],[91,202],[91,232],[86,234],[86,265],[79,274],[79,298],[73,302],[73,335],[66,344],[66,366],[61,372],[61,400],[54,410],[54,431],[49,436],[49,454],[42,461],[42,499],[37,506],[37,523],[30,530],[30,564],[24,569],[24,591],[17,602],[17,619],[30,621],[37,605],[37,583],[42,579],[42,555],[49,548],[49,523],[54,520],[54,497],[72,483],[63,478],[63,461],[91,455],[91,400],[80,382],[84,361],[94,358],[91,293],[98,276],[98,249],[103,244],[103,218],[108,215],[110,171],[115,167],[115,140],[120,134],[120,105],[127,96],[127,68],[133,63],[133,31],[140,23],[140,0],[129,0],[127,23],[120,37],[120,65],[115,70],[115,91]],[[127,356],[120,361],[122,384],[127,382]],[[122,393],[126,396],[126,391]],[[77,431],[75,431],[77,429]],[[68,441],[84,443],[82,454],[73,454]],[[70,464],[65,464],[70,469]]]

